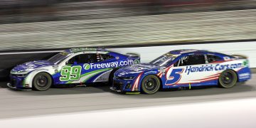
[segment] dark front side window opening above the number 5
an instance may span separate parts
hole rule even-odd
[[[185,66],[185,65],[200,65],[206,64],[206,59],[204,55],[186,55],[174,63],[175,67]]]

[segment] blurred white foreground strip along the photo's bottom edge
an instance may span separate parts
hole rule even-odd
[[[200,102],[0,120],[2,127],[246,127],[255,128],[256,99]],[[157,117],[157,118],[156,118]],[[201,119],[203,118],[203,121]],[[16,122],[16,123],[13,123]],[[45,122],[45,123],[42,123]],[[99,123],[100,122],[100,123]],[[132,124],[131,124],[132,123]],[[38,125],[40,124],[40,125]]]

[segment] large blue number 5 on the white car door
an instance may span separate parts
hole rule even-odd
[[[181,73],[183,73],[183,68],[173,69],[171,75],[166,80],[166,85],[174,85],[179,80],[181,80]]]

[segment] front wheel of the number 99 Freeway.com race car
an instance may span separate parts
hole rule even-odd
[[[38,91],[45,91],[52,85],[52,78],[48,73],[38,73],[33,78],[33,89]]]

